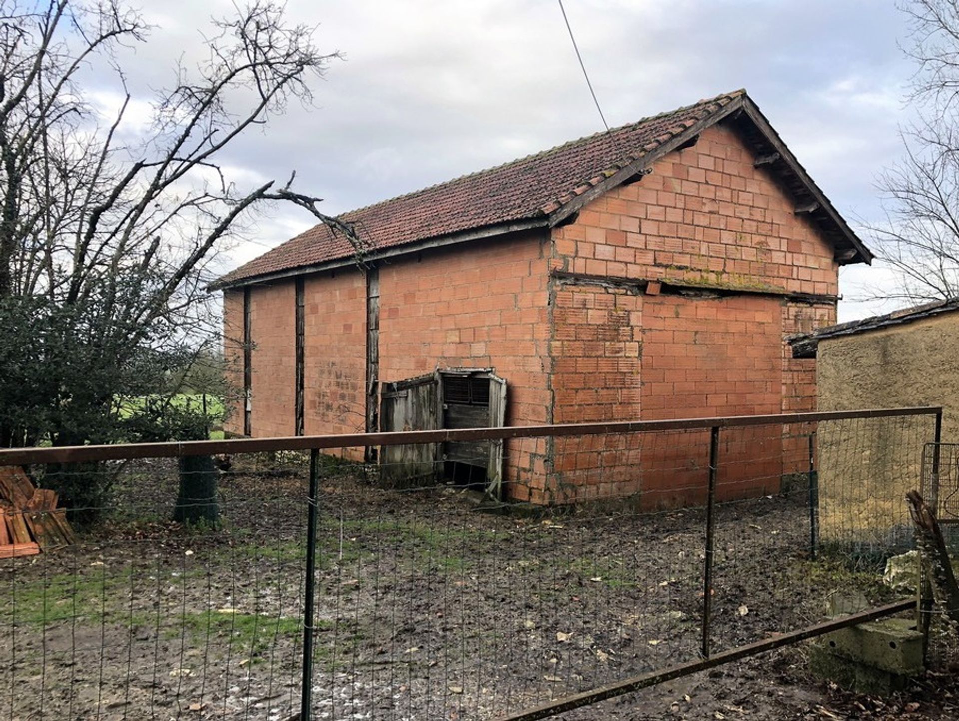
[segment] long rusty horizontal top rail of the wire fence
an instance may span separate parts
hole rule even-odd
[[[551,426],[503,426],[500,428],[456,430],[400,430],[383,433],[339,435],[294,435],[270,438],[231,438],[216,441],[169,441],[161,443],[116,443],[101,446],[59,446],[52,448],[0,449],[0,465],[27,463],[74,463],[130,458],[173,458],[181,455],[252,454],[268,451],[311,451],[362,446],[400,446],[448,441],[485,441],[506,438],[539,438],[606,433],[639,433],[657,430],[696,430],[767,426],[772,424],[816,423],[844,418],[882,418],[903,415],[937,415],[942,407],[865,408],[810,413],[734,415],[718,418],[681,418],[667,421],[615,421],[610,423],[567,423]]]

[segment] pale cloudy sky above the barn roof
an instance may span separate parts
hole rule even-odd
[[[891,0],[565,0],[610,125],[745,87],[809,173],[854,224],[876,219],[877,174],[901,154],[913,71]],[[168,82],[176,58],[203,51],[221,0],[147,4],[156,26],[135,50],[130,89]],[[289,0],[339,50],[316,107],[292,105],[234,146],[249,181],[285,180],[335,214],[601,129],[555,0]],[[105,103],[115,83],[92,87]],[[276,209],[239,265],[311,225]],[[878,267],[843,270],[840,318],[892,310],[854,302],[881,287]]]

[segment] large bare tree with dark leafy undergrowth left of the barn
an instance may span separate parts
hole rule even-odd
[[[319,198],[231,182],[223,151],[290,103],[334,54],[283,9],[252,0],[213,21],[208,53],[178,64],[123,131],[118,58],[151,28],[122,0],[12,0],[0,8],[0,443],[114,440],[116,399],[143,392],[213,314],[205,286],[224,243],[265,204],[292,202],[359,249]],[[104,120],[83,73],[123,98]],[[11,333],[10,329],[16,329]]]

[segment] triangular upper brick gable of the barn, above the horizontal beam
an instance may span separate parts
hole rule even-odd
[[[832,249],[794,210],[734,131],[713,126],[555,229],[553,267],[834,295]]]

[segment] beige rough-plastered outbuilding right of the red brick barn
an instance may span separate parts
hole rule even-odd
[[[943,407],[942,440],[959,442],[959,300],[840,323],[790,338],[797,359],[815,361],[820,410]],[[959,467],[941,458],[942,488],[930,488],[932,416],[823,424],[817,432],[820,533],[826,543],[909,546],[905,494],[921,490],[940,520],[959,523]],[[924,467],[925,466],[925,467]]]

